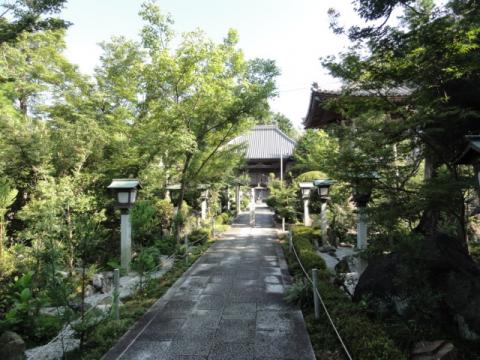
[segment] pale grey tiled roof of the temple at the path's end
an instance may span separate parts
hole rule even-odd
[[[246,145],[246,158],[280,159],[291,157],[297,144],[285,135],[276,125],[257,125],[247,134],[230,141],[231,145]]]

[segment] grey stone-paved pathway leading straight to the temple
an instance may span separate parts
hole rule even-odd
[[[315,359],[272,214],[257,206],[200,257],[103,359]]]

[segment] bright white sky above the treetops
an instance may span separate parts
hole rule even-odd
[[[140,0],[69,0],[62,17],[73,25],[67,32],[66,56],[86,73],[98,64],[98,43],[112,36],[138,39],[142,23]],[[344,37],[329,29],[327,10],[342,14],[342,23],[358,23],[351,0],[159,0],[163,12],[172,14],[177,32],[203,29],[221,41],[228,29],[237,29],[240,48],[247,58],[276,61],[282,75],[280,95],[271,102],[273,111],[289,117],[301,128],[307,113],[310,85],[339,88],[320,64],[320,57],[346,49]]]

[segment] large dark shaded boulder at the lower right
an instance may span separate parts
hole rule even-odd
[[[462,338],[480,339],[480,267],[454,238],[438,235],[420,244],[415,252],[370,261],[353,299],[367,297],[376,311],[405,318],[421,307]]]

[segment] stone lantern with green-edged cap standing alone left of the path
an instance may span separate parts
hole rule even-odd
[[[116,207],[121,211],[120,219],[120,263],[122,269],[128,272],[132,260],[132,225],[130,208],[137,200],[137,192],[141,188],[138,179],[113,179],[108,189],[113,190],[117,197]]]

